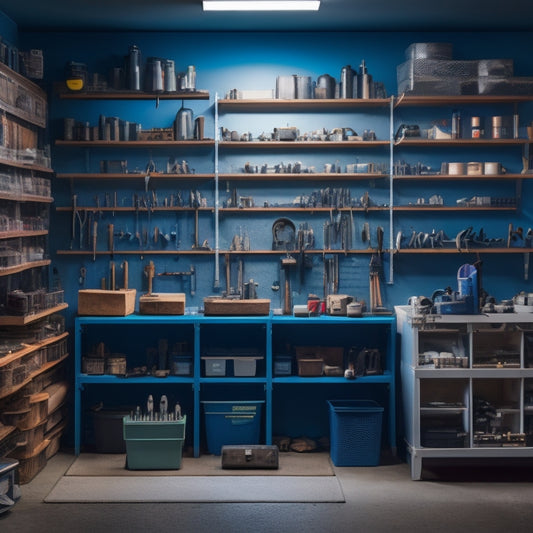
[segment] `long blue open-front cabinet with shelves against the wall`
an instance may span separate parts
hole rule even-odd
[[[203,315],[126,317],[77,317],[75,321],[75,453],[83,444],[84,413],[91,392],[105,391],[114,401],[134,398],[139,404],[148,394],[161,391],[180,401],[192,433],[194,455],[200,454],[204,427],[201,402],[258,400],[265,402],[262,440],[273,435],[327,434],[327,400],[377,397],[384,404],[388,445],[396,449],[394,316],[363,318],[289,316],[206,317]],[[160,339],[168,353],[176,345],[190,349],[189,375],[167,377],[87,374],[82,361],[94,345],[104,342],[111,355],[126,355],[128,368],[146,365],[157,356]],[[350,348],[378,348],[383,372],[347,380],[343,376],[299,376],[274,372],[278,356],[295,347],[323,346],[347,354]],[[220,365],[218,364],[220,363]],[[343,355],[342,368],[345,357]],[[216,366],[215,366],[216,365]],[[157,364],[156,364],[157,366]],[[167,360],[167,366],[168,364]],[[186,374],[186,373],[185,373]],[[170,399],[170,398],[169,398]]]

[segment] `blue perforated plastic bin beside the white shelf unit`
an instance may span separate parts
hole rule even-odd
[[[329,400],[330,455],[335,466],[377,466],[383,407],[372,400]]]

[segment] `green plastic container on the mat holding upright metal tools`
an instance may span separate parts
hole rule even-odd
[[[127,468],[129,470],[179,470],[185,424],[181,420],[141,421],[124,418]]]

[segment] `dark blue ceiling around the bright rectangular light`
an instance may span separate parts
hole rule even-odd
[[[0,11],[21,31],[533,30],[533,0],[322,0],[274,15],[203,13],[201,0],[0,0]]]

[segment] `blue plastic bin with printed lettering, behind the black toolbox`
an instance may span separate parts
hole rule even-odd
[[[264,401],[202,401],[205,415],[207,449],[213,455],[222,446],[259,444],[261,412]]]

